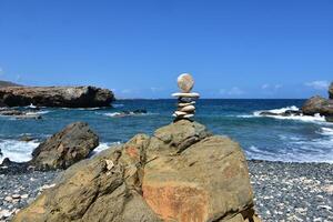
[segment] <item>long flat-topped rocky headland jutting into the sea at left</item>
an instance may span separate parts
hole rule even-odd
[[[0,88],[0,104],[24,107],[91,108],[109,107],[110,90],[94,87],[6,87]]]

